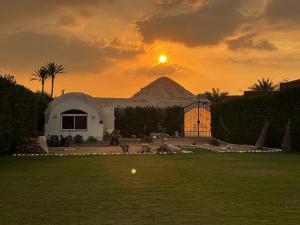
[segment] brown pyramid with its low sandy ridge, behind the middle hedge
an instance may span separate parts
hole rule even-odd
[[[160,77],[129,99],[97,98],[99,104],[113,107],[127,106],[185,106],[193,100],[194,94],[168,77]]]

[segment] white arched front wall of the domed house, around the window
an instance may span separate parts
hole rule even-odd
[[[86,112],[87,115],[87,130],[62,130],[61,127],[61,114],[68,110],[81,110]],[[97,138],[99,141],[103,140],[104,124],[100,124],[100,121],[104,121],[104,118],[100,118],[96,110],[89,104],[80,100],[68,100],[61,104],[58,104],[50,113],[48,123],[45,124],[45,136],[48,135],[63,135],[67,137],[69,135],[81,135],[84,140],[89,136]],[[108,119],[109,120],[109,119]]]

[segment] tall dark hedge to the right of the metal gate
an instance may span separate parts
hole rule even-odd
[[[254,145],[269,121],[266,145],[280,148],[289,118],[293,148],[300,151],[300,89],[241,97],[213,106],[212,134],[226,142]]]

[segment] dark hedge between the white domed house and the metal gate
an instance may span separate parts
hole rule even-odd
[[[128,107],[116,109],[116,129],[122,136],[143,137],[151,132],[166,132],[174,135],[176,131],[183,133],[184,110],[174,106],[168,108],[157,107]]]

